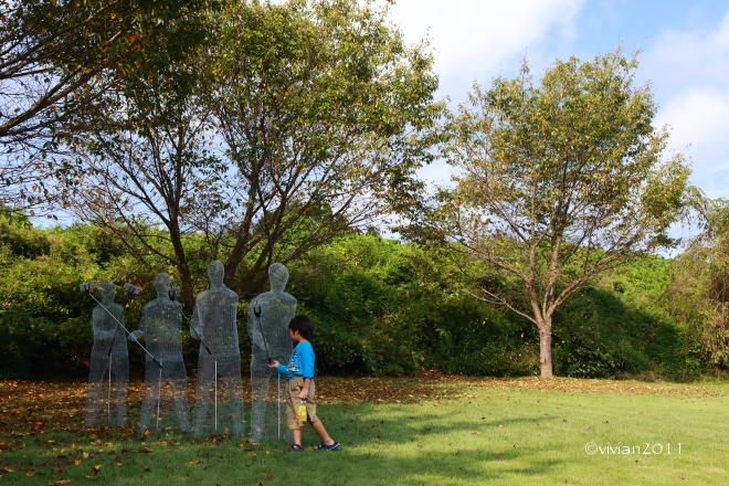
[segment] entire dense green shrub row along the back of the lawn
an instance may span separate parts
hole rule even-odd
[[[204,268],[205,263],[191,266]],[[637,260],[568,300],[553,326],[556,374],[682,377],[700,371],[698,351],[689,345],[695,339],[661,304],[669,264]],[[299,313],[317,325],[318,372],[537,374],[536,327],[441,283],[432,266],[418,246],[363,234],[292,263],[287,290],[298,299]],[[78,294],[77,284],[92,278],[140,284],[139,298],[117,299],[127,305],[126,320],[136,328],[141,306],[154,297],[152,275],[169,271],[140,266],[92,226],[40,230],[7,215],[0,219],[0,377],[83,373],[94,303]],[[196,292],[204,288],[203,277]],[[241,299],[239,318],[244,357],[250,297]],[[184,348],[192,369],[196,342],[187,332]],[[134,347],[130,352],[140,371],[141,355]]]

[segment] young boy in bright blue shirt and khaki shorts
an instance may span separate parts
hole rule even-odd
[[[270,368],[276,368],[282,374],[286,374],[286,425],[294,434],[292,452],[302,452],[302,425],[296,416],[296,410],[306,400],[307,422],[311,424],[321,444],[317,447],[321,451],[334,451],[339,447],[327,434],[324,424],[316,416],[316,402],[314,401],[314,349],[309,339],[314,336],[314,324],[306,316],[296,316],[288,323],[288,335],[295,344],[294,351],[285,367],[273,360]]]

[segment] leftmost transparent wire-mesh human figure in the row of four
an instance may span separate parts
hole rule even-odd
[[[114,303],[116,286],[101,282],[96,288],[102,302],[92,313],[92,348],[88,395],[84,424],[125,425],[129,388],[129,356],[124,328],[124,307]],[[105,397],[102,397],[102,392]]]

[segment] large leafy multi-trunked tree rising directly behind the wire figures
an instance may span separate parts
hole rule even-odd
[[[175,265],[188,305],[184,234],[224,262],[228,285],[254,292],[271,263],[397,204],[432,157],[441,109],[426,45],[404,45],[387,10],[231,1],[208,22],[209,43],[176,76],[128,80],[78,122],[94,127],[75,144],[84,181],[64,193],[140,258]]]

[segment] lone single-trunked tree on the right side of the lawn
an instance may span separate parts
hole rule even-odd
[[[466,289],[537,326],[542,377],[552,376],[557,308],[600,272],[675,243],[667,232],[689,169],[680,154],[664,157],[667,129],[652,126],[656,105],[634,85],[636,67],[619,50],[557,61],[539,86],[526,63],[518,78],[475,85],[444,127],[455,187],[405,233],[486,264]]]

